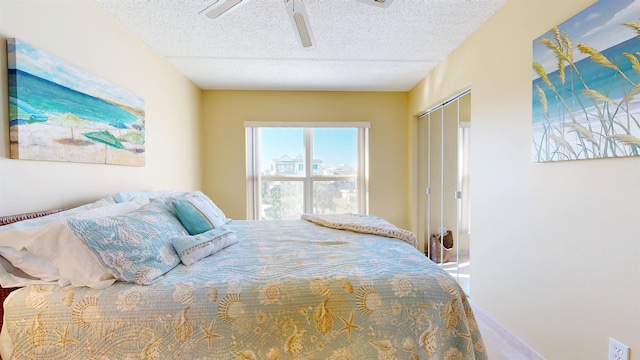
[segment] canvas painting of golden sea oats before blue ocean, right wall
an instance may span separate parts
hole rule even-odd
[[[600,0],[533,42],[534,162],[640,154],[640,2]]]

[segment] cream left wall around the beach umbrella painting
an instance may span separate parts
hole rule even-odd
[[[146,166],[9,159],[10,37],[144,97]],[[92,0],[1,0],[0,215],[76,205],[120,190],[199,188],[200,95]]]

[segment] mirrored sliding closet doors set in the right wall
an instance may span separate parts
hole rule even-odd
[[[432,234],[443,238],[451,232],[453,247],[445,251],[448,254],[437,252],[439,257],[435,256],[435,260],[458,279],[467,294],[469,213],[468,206],[463,205],[468,204],[470,196],[469,156],[465,152],[468,149],[470,97],[466,92],[434,107],[420,116],[417,127],[418,236],[424,240],[425,252],[430,253],[436,250],[429,246]]]

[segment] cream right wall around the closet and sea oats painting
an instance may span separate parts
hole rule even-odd
[[[606,359],[611,336],[637,360],[640,158],[530,160],[532,41],[592,2],[509,0],[410,113],[471,88],[472,301],[548,359]]]

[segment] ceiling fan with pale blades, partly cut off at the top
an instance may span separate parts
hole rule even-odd
[[[199,14],[211,19],[218,19],[236,10],[240,5],[250,0],[215,0],[211,5],[200,11]],[[375,5],[379,7],[388,7],[393,0],[357,0],[365,4]],[[313,32],[309,23],[309,16],[302,3],[302,0],[284,0],[284,6],[291,19],[293,30],[297,34],[296,40],[305,49],[312,49],[316,42],[313,38]]]

